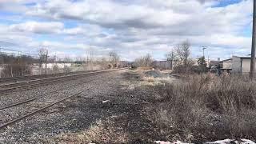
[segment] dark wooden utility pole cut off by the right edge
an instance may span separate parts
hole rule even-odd
[[[250,78],[254,78],[255,73],[255,36],[256,36],[256,0],[254,0],[254,14],[253,14],[253,31],[252,31],[252,42],[251,42],[251,58],[250,58]]]

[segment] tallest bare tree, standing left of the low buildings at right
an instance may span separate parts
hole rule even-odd
[[[176,46],[176,54],[178,57],[178,60],[181,62],[183,66],[187,66],[189,62],[189,56],[190,56],[190,42],[188,40],[178,44]]]

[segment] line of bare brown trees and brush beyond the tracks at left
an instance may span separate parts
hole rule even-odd
[[[34,58],[29,55],[0,54],[0,78],[30,74],[68,73],[80,70],[106,70],[127,65],[127,62],[120,61],[119,55],[115,52],[110,52],[102,58],[97,58],[90,52],[86,58],[78,58],[74,61],[68,56],[62,60],[56,56],[50,57],[48,50],[42,48],[38,50],[36,56]]]

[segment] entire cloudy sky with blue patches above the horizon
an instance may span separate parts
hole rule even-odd
[[[188,39],[192,57],[250,54],[253,0],[0,0],[0,46],[124,60],[164,59]]]

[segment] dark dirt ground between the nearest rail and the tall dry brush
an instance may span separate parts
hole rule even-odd
[[[3,143],[153,143],[162,140],[145,109],[161,90],[134,71],[88,82],[84,92],[0,130]]]

